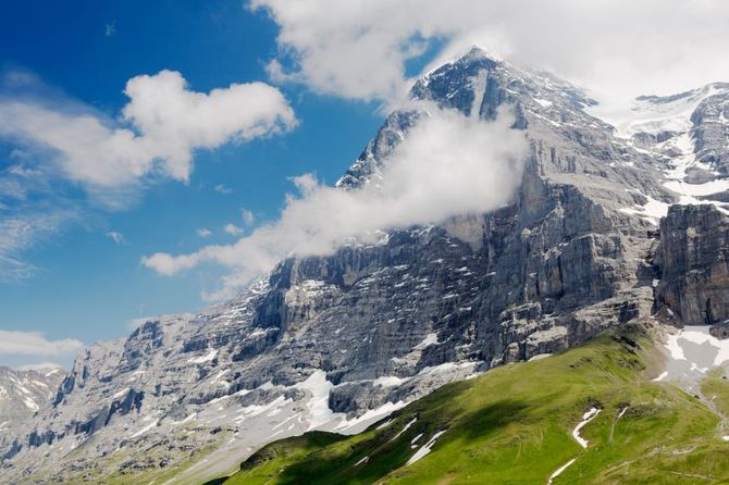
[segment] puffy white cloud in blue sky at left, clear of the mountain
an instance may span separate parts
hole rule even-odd
[[[83,104],[0,97],[0,137],[57,156],[63,174],[97,188],[124,187],[158,175],[187,182],[196,149],[291,129],[284,96],[263,83],[191,91],[183,76],[161,71],[133,77],[122,119]]]

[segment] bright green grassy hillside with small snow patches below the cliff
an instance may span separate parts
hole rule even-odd
[[[555,484],[729,483],[720,418],[695,397],[646,377],[655,348],[639,334],[606,334],[444,386],[391,424],[356,436],[310,433],[273,443],[215,483],[544,484],[572,458]],[[590,442],[583,449],[571,433],[593,406],[602,411],[581,431]],[[406,465],[418,449],[411,440],[422,434],[416,445],[424,445],[438,431],[445,433],[432,451]]]

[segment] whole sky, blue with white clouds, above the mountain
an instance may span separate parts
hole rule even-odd
[[[0,364],[67,366],[83,345],[199,310],[282,256],[474,209],[429,206],[422,187],[465,192],[432,179],[393,177],[398,206],[379,214],[372,194],[331,188],[413,78],[474,43],[574,82],[606,113],[729,80],[729,3],[700,3],[3,2]],[[434,113],[392,166],[438,174],[434,150],[508,137]]]

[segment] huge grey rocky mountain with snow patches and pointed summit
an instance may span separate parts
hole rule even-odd
[[[728,85],[639,98],[608,124],[568,83],[474,49],[411,96],[515,111],[531,150],[512,203],[283,261],[232,301],[89,348],[51,403],[0,436],[0,481],[181,468],[174,482],[196,483],[265,443],[358,432],[444,383],[640,316],[729,318]],[[424,115],[391,114],[337,185],[376,183]]]

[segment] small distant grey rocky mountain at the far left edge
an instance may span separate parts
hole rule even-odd
[[[0,366],[0,431],[16,426],[46,407],[64,376],[58,368],[14,371]]]

